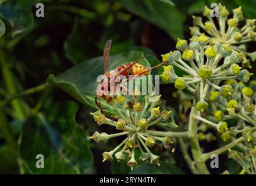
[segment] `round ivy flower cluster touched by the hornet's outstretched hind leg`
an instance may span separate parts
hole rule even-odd
[[[230,44],[219,41],[207,47],[208,44],[209,39],[203,33],[189,44],[186,40],[178,40],[178,50],[162,55],[162,60],[168,64],[163,69],[162,81],[174,83],[178,90],[187,88],[193,95],[198,95],[196,108],[201,112],[208,108],[205,96],[209,87],[215,88],[223,98],[227,98],[232,95],[233,88],[228,84],[219,86],[220,81],[237,79],[247,83],[253,75],[237,65],[245,59],[244,53],[234,51]],[[177,76],[174,66],[187,75]]]

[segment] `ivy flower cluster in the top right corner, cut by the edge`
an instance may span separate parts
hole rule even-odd
[[[204,12],[200,16],[193,16],[193,27],[190,27],[192,38],[197,38],[202,34],[201,30],[206,33],[209,38],[209,45],[213,45],[216,41],[230,44],[230,47],[238,52],[244,52],[251,60],[256,59],[256,52],[246,52],[245,42],[256,41],[256,33],[254,32],[255,19],[244,19],[241,6],[233,9],[233,17],[230,17],[229,10],[219,3],[219,16],[214,22],[211,16],[211,9],[205,6]],[[207,19],[205,22],[203,21]],[[216,24],[215,24],[216,23]],[[245,24],[244,24],[245,23]],[[245,59],[243,66],[250,66],[250,60]]]

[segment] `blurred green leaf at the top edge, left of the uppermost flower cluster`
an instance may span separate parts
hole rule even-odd
[[[169,1],[159,0],[117,0],[126,9],[135,15],[142,17],[155,26],[162,28],[173,38],[184,38],[183,23],[186,17],[178,9],[173,7]]]

